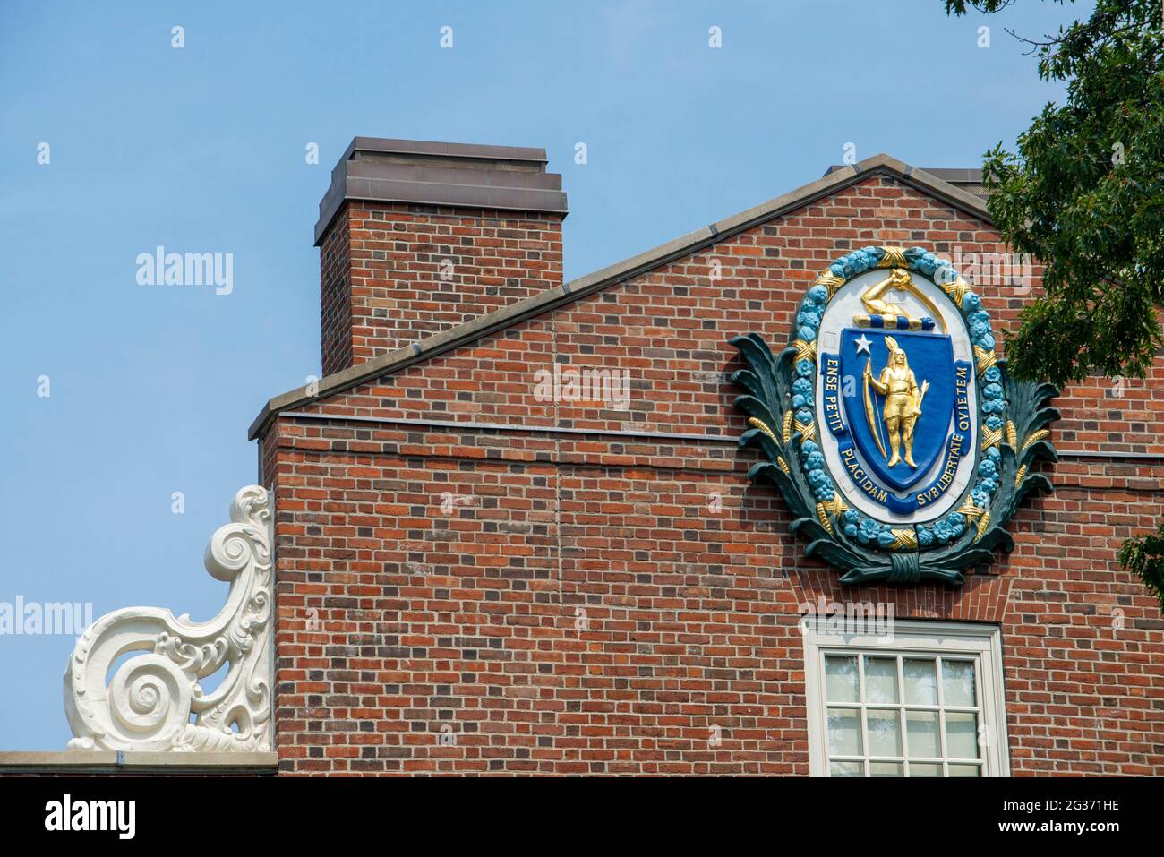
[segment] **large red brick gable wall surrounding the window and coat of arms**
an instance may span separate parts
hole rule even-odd
[[[300,409],[320,418],[279,417],[263,455],[281,771],[805,774],[797,609],[823,594],[1001,624],[1013,773],[1164,774],[1164,623],[1115,561],[1164,515],[1164,461],[1079,455],[1164,453],[1159,384],[1066,391],[1056,494],[960,589],[839,587],[788,534],[778,491],[747,482],[757,453],[734,445],[726,340],[786,341],[816,272],[868,243],[1003,249],[986,225],[870,179]],[[978,291],[1013,324],[1024,298]],[[533,373],[555,360],[630,369],[630,409],[537,401]],[[553,425],[663,437],[531,431]],[[724,439],[667,437],[681,433]]]

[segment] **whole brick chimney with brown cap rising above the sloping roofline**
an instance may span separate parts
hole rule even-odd
[[[356,137],[319,204],[324,374],[562,283],[546,150]]]

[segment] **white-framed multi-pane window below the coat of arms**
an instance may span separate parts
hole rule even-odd
[[[1010,775],[998,626],[801,626],[814,777]]]

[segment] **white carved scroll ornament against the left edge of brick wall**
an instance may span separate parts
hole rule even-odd
[[[230,583],[210,622],[156,607],[106,614],[65,670],[70,750],[270,751],[274,532],[267,490],[248,486],[206,547],[206,571]],[[106,682],[109,668],[128,652]],[[199,679],[223,665],[211,693]]]

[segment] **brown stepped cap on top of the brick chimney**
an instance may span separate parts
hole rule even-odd
[[[546,150],[427,140],[355,137],[319,203],[315,245],[346,201],[551,212],[566,217],[562,177]]]

